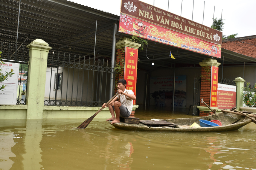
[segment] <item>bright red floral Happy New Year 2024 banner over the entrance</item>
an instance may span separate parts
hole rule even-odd
[[[119,32],[221,58],[221,45],[188,36],[159,25],[120,14]]]

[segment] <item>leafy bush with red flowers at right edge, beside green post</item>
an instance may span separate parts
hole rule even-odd
[[[245,93],[242,94],[242,97],[245,105],[248,107],[256,106],[256,84],[251,89],[250,83],[247,83],[244,91]]]

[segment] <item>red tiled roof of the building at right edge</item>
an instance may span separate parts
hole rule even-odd
[[[223,40],[221,48],[256,58],[256,35]]]

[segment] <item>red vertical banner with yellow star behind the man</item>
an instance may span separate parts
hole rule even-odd
[[[126,89],[132,90],[136,96],[138,49],[125,47],[125,73]],[[133,100],[135,104],[135,100]]]

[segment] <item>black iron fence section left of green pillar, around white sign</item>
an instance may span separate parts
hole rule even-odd
[[[19,63],[18,94],[16,104],[26,104],[26,84],[29,64],[29,50],[25,45],[1,42],[1,60],[3,62]]]

